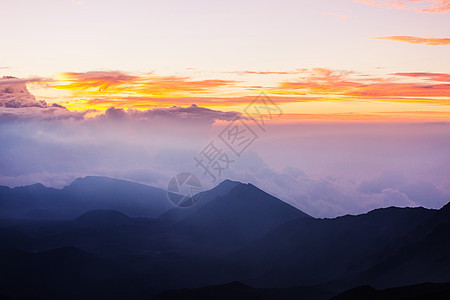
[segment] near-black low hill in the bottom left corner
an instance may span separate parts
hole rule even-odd
[[[95,299],[96,286],[123,270],[113,262],[73,247],[41,253],[0,251],[0,290],[12,298]]]

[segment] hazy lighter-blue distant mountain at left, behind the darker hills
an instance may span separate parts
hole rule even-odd
[[[0,187],[0,218],[73,219],[95,209],[157,217],[172,205],[162,189],[108,177],[78,178],[63,189]]]

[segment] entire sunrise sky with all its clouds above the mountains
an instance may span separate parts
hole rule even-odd
[[[189,171],[212,187],[193,157],[213,141],[234,160],[217,180],[315,216],[438,208],[449,15],[448,0],[4,1],[0,185]],[[235,117],[242,153],[221,135]]]

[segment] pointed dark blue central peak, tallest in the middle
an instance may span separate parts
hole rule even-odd
[[[177,223],[172,232],[200,245],[240,248],[288,221],[302,218],[311,217],[252,184],[239,183]]]

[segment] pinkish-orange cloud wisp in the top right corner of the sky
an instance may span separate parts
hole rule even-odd
[[[354,0],[355,2],[389,7],[393,9],[412,10],[418,13],[445,13],[450,10],[450,0]]]

